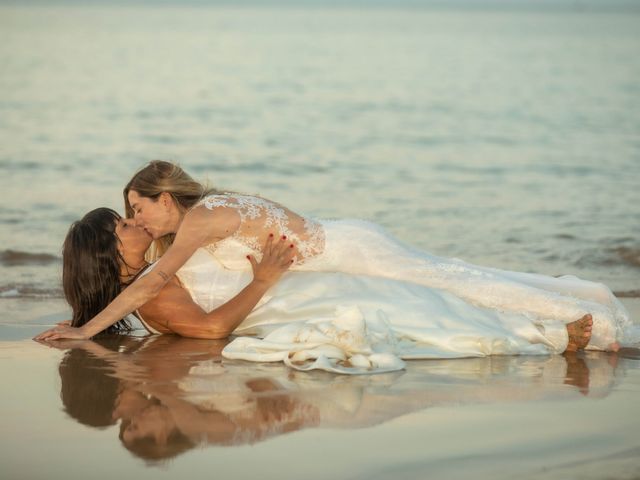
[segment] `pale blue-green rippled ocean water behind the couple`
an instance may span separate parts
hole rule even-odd
[[[0,5],[0,299],[151,159],[432,253],[640,292],[640,14]],[[0,303],[1,304],[1,303]]]

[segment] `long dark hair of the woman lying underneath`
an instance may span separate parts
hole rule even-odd
[[[120,215],[110,208],[96,208],[69,228],[62,247],[62,289],[73,311],[71,325],[81,327],[100,313],[126,285],[120,283],[116,222]],[[131,331],[121,319],[104,333]]]

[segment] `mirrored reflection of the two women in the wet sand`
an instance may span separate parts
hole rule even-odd
[[[225,344],[170,335],[59,342],[68,349],[59,366],[64,408],[92,427],[119,423],[122,444],[155,461],[304,428],[367,427],[433,406],[603,397],[619,357],[416,361],[404,372],[345,377],[230,362],[220,355]]]

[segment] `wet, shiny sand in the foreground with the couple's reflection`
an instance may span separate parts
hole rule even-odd
[[[638,318],[640,299],[623,301]],[[354,378],[143,332],[48,348],[31,337],[64,304],[2,302],[3,478],[640,476],[636,350]]]

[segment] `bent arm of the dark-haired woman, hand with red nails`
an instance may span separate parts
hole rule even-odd
[[[146,321],[161,331],[184,337],[226,338],[251,313],[265,292],[291,265],[293,249],[289,242],[273,243],[269,238],[258,264],[251,258],[254,278],[224,305],[206,313],[176,281],[169,282],[153,301],[140,309]]]

